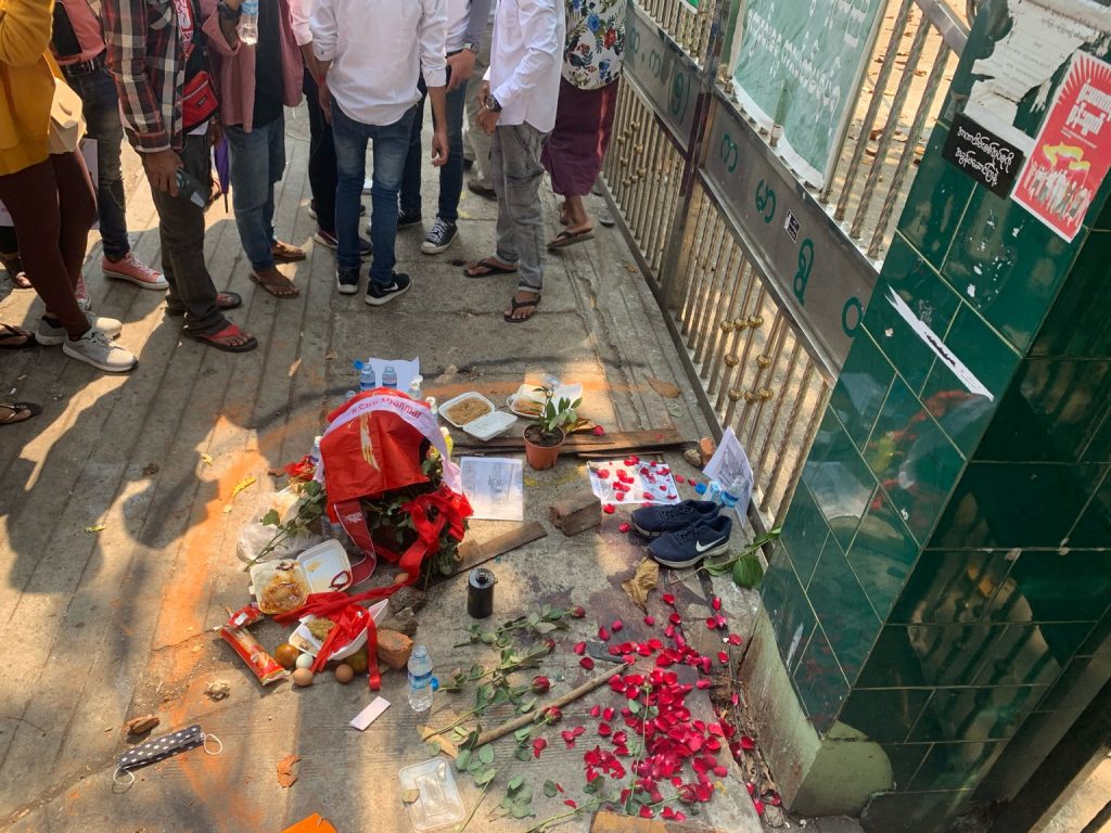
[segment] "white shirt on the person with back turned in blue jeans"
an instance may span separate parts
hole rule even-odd
[[[328,89],[348,118],[393,124],[429,87],[447,83],[444,0],[314,0],[312,51],[331,61]]]

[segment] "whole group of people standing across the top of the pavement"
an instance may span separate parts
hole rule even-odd
[[[81,269],[99,207],[107,277],[166,290],[167,314],[182,318],[187,338],[230,352],[254,349],[257,339],[224,314],[242,299],[216,289],[204,260],[211,149],[227,140],[251,280],[277,298],[296,297],[296,283],[277,265],[306,252],[278,239],[273,219],[274,185],[286,169],[284,108],[302,94],[313,237],[336,249],[339,292],[359,291],[367,259],[367,303],[388,303],[411,287],[396,269],[394,238],[399,229],[423,228],[429,100],[439,195],[421,249],[437,254],[458,239],[471,153],[470,190],[498,202],[497,248],[464,273],[518,274],[504,319],[531,318],[543,287],[546,168],[564,198],[565,225],[547,248],[591,235],[582,197],[612,126],[623,8],[621,0],[260,0],[257,32],[243,37],[243,0],[0,0],[0,201],[18,238],[0,232],[0,259],[47,310],[36,333],[6,328],[0,347],[61,344],[101,370],[136,365],[114,341],[120,322],[88,309]],[[84,102],[97,140],[96,189],[80,153],[51,152],[60,83]],[[128,242],[124,133],[159,214],[162,273]],[[368,142],[369,240],[359,229]],[[0,411],[0,424],[16,421]]]

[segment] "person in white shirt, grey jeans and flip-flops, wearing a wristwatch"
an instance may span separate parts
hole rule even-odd
[[[498,192],[498,249],[464,270],[468,278],[519,272],[502,318],[528,321],[543,289],[540,150],[556,126],[563,39],[563,0],[499,0],[490,69],[479,89],[479,127],[492,134],[490,163]]]

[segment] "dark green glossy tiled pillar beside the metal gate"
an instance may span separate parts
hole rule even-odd
[[[988,8],[958,90],[1007,30],[1003,4]],[[1111,679],[1111,183],[1065,243],[944,161],[947,128],[763,590],[818,733],[840,722],[888,755],[894,785],[869,805],[870,830],[930,833],[973,796],[1012,797]]]

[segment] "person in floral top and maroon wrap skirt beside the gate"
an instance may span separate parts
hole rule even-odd
[[[563,197],[567,228],[549,244],[561,249],[593,237],[582,198],[598,179],[610,143],[624,54],[624,0],[565,0],[567,41],[556,128],[541,162]]]

